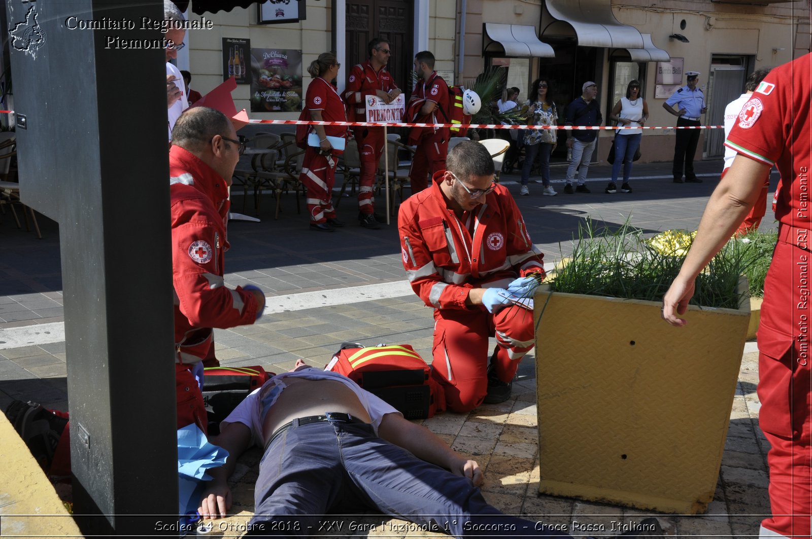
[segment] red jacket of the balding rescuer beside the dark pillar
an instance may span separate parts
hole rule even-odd
[[[195,363],[209,350],[212,328],[253,324],[257,300],[222,281],[230,204],[226,181],[179,146],[170,150],[169,173],[175,359]]]

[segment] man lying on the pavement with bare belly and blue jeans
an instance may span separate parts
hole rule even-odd
[[[230,456],[211,470],[198,509],[205,519],[231,507],[227,478],[236,459],[255,443],[265,447],[249,536],[307,536],[320,515],[371,509],[456,537],[482,530],[568,537],[503,515],[477,488],[484,478],[475,461],[348,377],[302,360],[244,399],[211,441]],[[656,521],[640,524],[659,531]]]

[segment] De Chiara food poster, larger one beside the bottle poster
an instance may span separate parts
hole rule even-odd
[[[252,49],[251,112],[300,112],[302,51]]]

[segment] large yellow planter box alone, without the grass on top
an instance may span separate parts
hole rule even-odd
[[[706,510],[749,301],[738,310],[689,307],[683,327],[663,321],[660,307],[535,296],[541,493],[680,514]]]

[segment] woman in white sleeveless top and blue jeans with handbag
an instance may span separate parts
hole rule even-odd
[[[643,136],[642,127],[649,119],[649,106],[640,95],[640,81],[633,80],[626,87],[626,97],[621,97],[615,103],[615,108],[609,113],[609,119],[615,120],[618,127],[637,127],[637,129],[615,130],[615,163],[611,167],[611,182],[607,185],[607,193],[617,192],[617,176],[620,165],[623,164],[623,185],[621,192],[632,192],[628,184],[628,177],[632,174],[634,153],[640,147]]]

